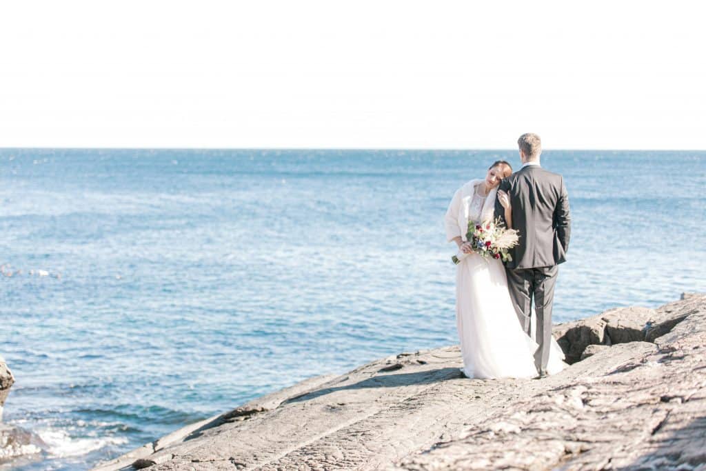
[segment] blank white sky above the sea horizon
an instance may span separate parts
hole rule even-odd
[[[0,147],[706,149],[680,1],[3,1]]]

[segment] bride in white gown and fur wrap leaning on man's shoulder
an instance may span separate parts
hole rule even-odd
[[[460,251],[471,253],[466,240],[468,221],[493,219],[500,181],[513,169],[498,160],[485,179],[471,180],[456,191],[445,215],[446,237]],[[509,198],[501,191],[500,202],[509,216]],[[508,224],[511,218],[506,217]],[[532,316],[534,321],[534,316]],[[537,342],[525,334],[510,301],[505,267],[500,260],[471,253],[456,266],[456,326],[461,342],[463,373],[469,378],[534,378]],[[554,338],[549,353],[549,374],[565,366],[564,354]]]

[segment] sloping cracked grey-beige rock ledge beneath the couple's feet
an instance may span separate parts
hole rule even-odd
[[[573,364],[464,378],[457,346],[319,376],[97,470],[706,470],[706,296],[556,326]]]

